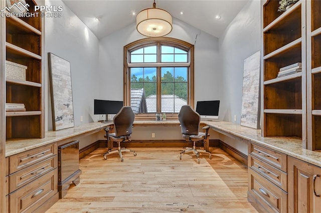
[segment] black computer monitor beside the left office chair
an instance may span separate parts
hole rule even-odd
[[[122,106],[123,101],[121,100],[94,99],[94,114],[106,114],[105,121],[108,121],[108,114],[117,114]]]

